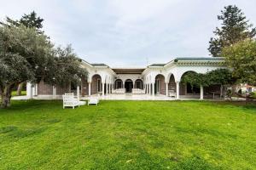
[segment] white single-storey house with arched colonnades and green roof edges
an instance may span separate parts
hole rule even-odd
[[[176,99],[194,96],[203,99],[208,95],[221,95],[220,86],[191,88],[183,84],[183,75],[189,71],[207,71],[225,68],[224,58],[176,58],[166,64],[153,64],[145,68],[111,68],[105,64],[90,64],[81,60],[81,66],[88,71],[78,87],[55,87],[44,82],[27,83],[27,96],[59,98],[73,92],[79,96],[110,94],[148,94],[173,96]]]

